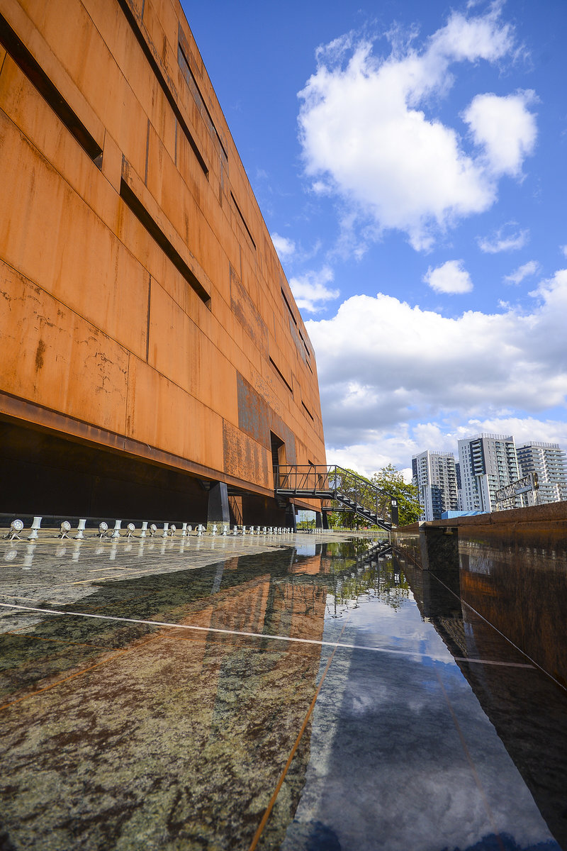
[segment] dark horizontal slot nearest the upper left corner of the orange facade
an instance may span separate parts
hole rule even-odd
[[[71,109],[63,95],[60,94],[59,89],[51,82],[42,66],[34,59],[2,14],[0,14],[0,43],[3,44],[20,70],[26,74],[30,83],[35,86],[55,115],[65,124],[65,127],[75,137],[88,157],[93,161],[100,157],[102,148],[97,140],[88,132],[77,113]]]

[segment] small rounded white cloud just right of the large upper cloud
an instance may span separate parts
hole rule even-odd
[[[530,89],[507,97],[477,94],[463,119],[475,143],[485,148],[487,168],[495,174],[521,174],[524,158],[536,146],[536,117],[526,109],[535,100]]]

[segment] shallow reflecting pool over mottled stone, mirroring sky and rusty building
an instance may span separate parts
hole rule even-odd
[[[567,848],[564,692],[446,583],[314,540],[13,547],[0,849]]]

